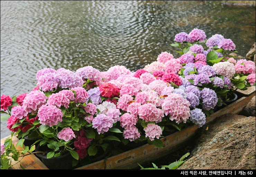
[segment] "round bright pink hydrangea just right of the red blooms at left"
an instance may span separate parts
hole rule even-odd
[[[62,122],[63,113],[61,109],[54,105],[43,105],[38,109],[38,120],[40,124],[52,127],[57,125],[58,121]]]

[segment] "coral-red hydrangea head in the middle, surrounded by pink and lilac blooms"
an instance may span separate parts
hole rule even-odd
[[[100,92],[103,97],[118,97],[119,88],[112,83],[103,83],[100,85]]]

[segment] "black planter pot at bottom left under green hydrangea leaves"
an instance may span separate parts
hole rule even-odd
[[[36,151],[46,151],[47,149],[47,146],[36,147]],[[72,169],[73,157],[69,152],[59,157],[52,157],[49,159],[47,159],[46,155],[43,155],[42,153],[36,153],[36,156],[39,157],[43,164],[49,169]]]

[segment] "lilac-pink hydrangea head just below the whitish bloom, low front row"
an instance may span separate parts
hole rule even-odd
[[[114,119],[105,114],[98,114],[92,120],[92,128],[97,129],[98,134],[107,132],[113,126]]]

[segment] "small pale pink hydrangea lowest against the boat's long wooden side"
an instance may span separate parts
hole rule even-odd
[[[144,129],[146,137],[149,137],[151,141],[155,138],[159,139],[162,135],[162,128],[155,124],[148,124]]]

